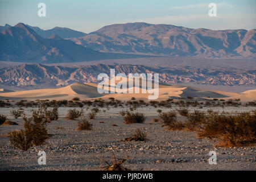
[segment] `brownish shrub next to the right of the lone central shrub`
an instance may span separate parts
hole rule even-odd
[[[175,111],[160,113],[159,118],[162,119],[162,122],[164,123],[163,126],[166,126],[168,130],[181,130],[183,128],[183,124],[177,122],[177,115]]]

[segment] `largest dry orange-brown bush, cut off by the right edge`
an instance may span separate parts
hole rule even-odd
[[[200,138],[217,138],[217,146],[240,147],[256,142],[256,112],[238,114],[212,113],[205,118]]]

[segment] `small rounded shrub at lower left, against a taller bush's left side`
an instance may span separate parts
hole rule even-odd
[[[24,130],[13,131],[10,133],[10,143],[14,147],[20,148],[21,150],[28,150],[32,147],[32,138],[30,135],[26,135]]]

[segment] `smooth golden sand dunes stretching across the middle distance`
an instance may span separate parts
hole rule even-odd
[[[109,90],[108,87],[106,90]],[[114,97],[118,100],[130,100],[131,97],[137,98],[137,100],[148,100],[150,95],[147,90],[141,87],[137,88],[139,93],[135,93],[135,87],[127,88],[127,93],[112,93],[112,94],[100,94],[97,91],[97,84],[87,83],[75,83],[63,88],[55,89],[38,89],[38,90],[26,90],[18,92],[0,92],[0,99],[9,100],[71,100],[73,97],[79,97],[81,100],[102,98],[108,100],[109,97]],[[133,93],[129,93],[129,90],[133,90]],[[143,93],[146,92],[146,93]],[[183,85],[162,85],[159,84],[159,100],[167,100],[168,98],[187,98],[193,97],[196,99],[240,99],[241,101],[253,101],[256,100],[256,89],[247,90],[243,93],[222,92],[218,90],[204,90],[197,89]]]

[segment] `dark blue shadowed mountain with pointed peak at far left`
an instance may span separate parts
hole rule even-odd
[[[67,63],[101,59],[139,57],[133,55],[101,53],[85,48],[53,34],[43,38],[23,23],[5,28],[0,33],[0,60],[25,63]]]

